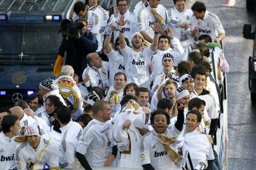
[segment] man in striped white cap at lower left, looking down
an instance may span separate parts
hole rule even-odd
[[[37,124],[22,127],[15,142],[21,143],[15,148],[15,162],[18,169],[59,168],[59,145],[54,140],[41,137]]]

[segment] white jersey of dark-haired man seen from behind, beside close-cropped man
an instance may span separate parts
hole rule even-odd
[[[67,125],[60,128],[61,142],[60,142],[60,155],[59,165],[61,168],[79,168],[80,163],[75,157],[75,148],[82,136],[83,129],[79,123],[70,121]]]

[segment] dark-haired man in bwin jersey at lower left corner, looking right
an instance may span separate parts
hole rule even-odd
[[[0,148],[1,148],[1,169],[15,169],[14,151],[17,145],[14,142],[15,136],[20,131],[20,121],[17,116],[6,115],[2,119],[2,132],[0,133]]]

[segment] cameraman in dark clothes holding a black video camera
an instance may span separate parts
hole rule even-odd
[[[98,41],[92,33],[87,31],[87,21],[63,20],[61,29],[63,39],[59,47],[59,56],[54,65],[54,75],[59,76],[61,65],[71,65],[75,73],[82,76],[82,71],[87,67],[87,54],[95,52],[98,48]]]

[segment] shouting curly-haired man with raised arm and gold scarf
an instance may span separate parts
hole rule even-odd
[[[168,127],[170,123],[168,113],[164,110],[155,110],[151,113],[150,122],[153,131],[148,132],[141,140],[140,162],[142,167],[144,169],[181,168],[184,160],[177,153],[177,139],[175,138],[181,134],[184,114],[179,113],[174,126]]]

